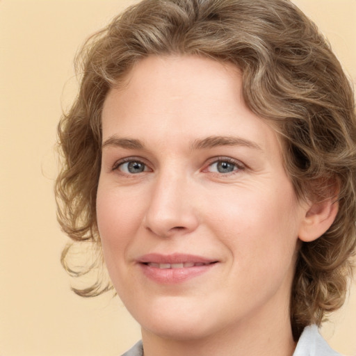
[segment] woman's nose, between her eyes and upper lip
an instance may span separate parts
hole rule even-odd
[[[158,177],[151,190],[144,218],[145,228],[161,237],[193,232],[197,228],[198,217],[192,193],[186,177]]]

